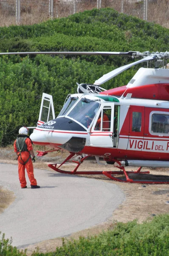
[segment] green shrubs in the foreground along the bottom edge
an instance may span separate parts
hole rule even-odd
[[[1,256],[25,256],[12,247],[11,241],[0,241]],[[169,255],[169,215],[159,215],[152,221],[137,224],[137,221],[113,224],[112,229],[98,236],[80,237],[66,241],[51,253],[32,256],[168,256]]]

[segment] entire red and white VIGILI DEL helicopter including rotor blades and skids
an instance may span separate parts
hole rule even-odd
[[[135,180],[129,174],[145,174],[142,167],[169,167],[169,52],[12,52],[1,54],[124,55],[140,60],[103,75],[94,84],[78,84],[78,93],[68,95],[55,118],[52,96],[43,93],[37,127],[31,134],[36,145],[70,152],[57,165],[48,166],[66,174],[103,174],[112,180],[130,183],[169,183],[166,180]],[[124,70],[142,62],[154,61],[155,68],[141,67],[129,83],[105,90],[100,87]],[[162,68],[160,68],[162,64]],[[164,67],[165,66],[165,67]],[[51,151],[54,151],[51,150]],[[45,155],[49,151],[39,152]],[[74,157],[79,160],[74,160]],[[120,171],[78,172],[89,157],[97,163],[116,163]],[[76,168],[64,171],[67,161]],[[127,172],[126,166],[141,166]],[[119,175],[125,175],[120,179]],[[118,175],[118,176],[115,176]]]

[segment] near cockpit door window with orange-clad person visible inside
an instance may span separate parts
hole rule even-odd
[[[109,106],[101,110],[94,128],[96,131],[110,131],[111,111],[112,109]]]

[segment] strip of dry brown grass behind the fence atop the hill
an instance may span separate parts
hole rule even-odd
[[[0,26],[16,24],[15,3],[7,1],[0,2]],[[101,8],[110,7],[121,12],[121,1],[101,0]],[[56,0],[53,7],[53,18],[68,17],[74,12],[83,12],[97,8],[96,0],[78,0],[76,6],[73,1]],[[128,15],[144,19],[144,1],[125,0],[123,12]],[[32,25],[51,19],[48,2],[23,0],[20,2],[20,21],[17,25]],[[169,5],[168,0],[148,1],[147,21],[155,22],[169,28]]]

